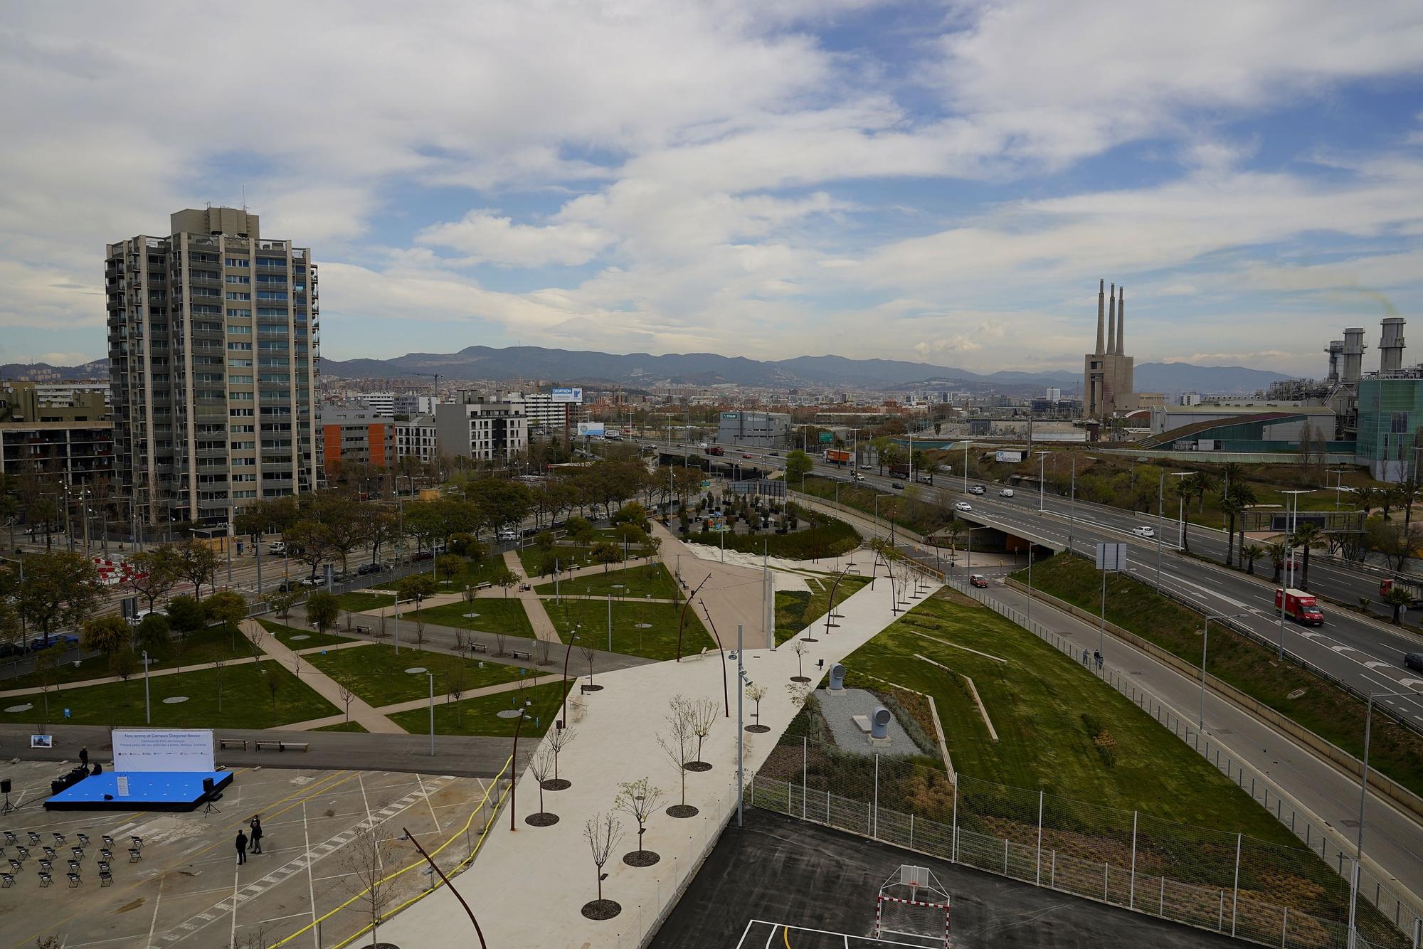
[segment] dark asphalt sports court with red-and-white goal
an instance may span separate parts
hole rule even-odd
[[[928,866],[948,892],[955,949],[1239,945],[1215,933],[758,808],[747,808],[744,828],[739,829],[734,820],[727,827],[652,945],[656,949],[922,949],[932,943],[916,936],[872,938],[881,888],[904,864]],[[943,945],[942,938],[938,945]]]

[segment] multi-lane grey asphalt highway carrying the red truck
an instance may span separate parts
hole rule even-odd
[[[663,452],[693,455],[700,454],[696,445],[673,445],[649,440],[647,444],[657,445]],[[743,455],[751,455],[746,458]],[[758,468],[783,468],[784,452],[771,455],[768,451],[757,448],[726,447],[726,455],[712,458],[712,461],[743,464]],[[817,475],[831,478],[848,478],[850,472],[838,465],[815,462]],[[879,477],[871,471],[861,472],[864,484],[898,495],[892,485],[904,485],[902,479]],[[1288,653],[1311,663],[1325,673],[1348,683],[1360,693],[1368,691],[1406,691],[1423,690],[1423,673],[1416,673],[1403,666],[1403,654],[1407,652],[1423,652],[1423,637],[1402,627],[1393,627],[1382,622],[1370,620],[1352,610],[1325,605],[1325,625],[1303,627],[1288,619],[1279,622],[1275,610],[1275,585],[1269,582],[1269,565],[1265,565],[1265,576],[1249,576],[1241,571],[1227,569],[1217,563],[1208,563],[1192,556],[1183,556],[1174,544],[1174,521],[1165,521],[1161,544],[1160,561],[1157,555],[1157,539],[1138,538],[1131,534],[1131,528],[1138,525],[1155,529],[1157,518],[1148,515],[1133,515],[1104,505],[1073,505],[1067,498],[1047,495],[1044,511],[1039,512],[1039,497],[1036,491],[1016,489],[1013,498],[999,498],[1000,485],[969,479],[969,487],[983,484],[986,492],[969,495],[963,491],[963,481],[948,475],[936,475],[935,485],[916,485],[921,497],[933,504],[952,505],[958,501],[968,501],[972,511],[959,512],[959,516],[992,526],[1007,529],[1020,536],[1037,541],[1057,549],[1067,549],[1069,535],[1072,549],[1080,555],[1091,558],[1099,542],[1126,542],[1127,563],[1130,572],[1137,579],[1151,586],[1157,585],[1157,565],[1160,562],[1160,583],[1164,592],[1185,600],[1191,606],[1214,615],[1231,616],[1234,625],[1248,629],[1269,642],[1284,640]],[[795,485],[790,485],[793,489]],[[1224,559],[1224,532],[1207,528],[1190,528],[1190,546],[1192,553],[1210,555],[1212,545],[1218,548],[1218,555]],[[1323,568],[1323,569],[1321,569]],[[1333,565],[1311,563],[1311,588],[1323,590],[1333,583],[1353,583],[1358,589],[1377,592],[1377,580],[1366,580],[1363,575],[1346,571]],[[1360,593],[1362,595],[1362,593]],[[1342,593],[1339,599],[1346,599]],[[1244,616],[1235,617],[1237,613]],[[1379,704],[1387,706],[1397,716],[1410,721],[1414,727],[1423,728],[1423,694],[1413,696],[1382,696]]]

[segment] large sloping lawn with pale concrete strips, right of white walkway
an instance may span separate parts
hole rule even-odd
[[[966,775],[1299,845],[1248,794],[1128,699],[986,608],[925,600],[851,653],[845,666],[932,694],[953,767]],[[998,741],[989,737],[962,676],[973,679]],[[1096,719],[1116,741],[1114,765],[1099,754],[1084,717]]]

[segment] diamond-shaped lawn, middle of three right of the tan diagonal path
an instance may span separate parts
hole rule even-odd
[[[433,672],[435,674],[435,694],[448,691],[448,674],[453,669],[464,669],[464,691],[497,686],[501,682],[514,682],[519,677],[518,666],[461,659],[428,650],[417,652],[413,646],[406,646],[400,654],[396,654],[396,647],[384,643],[337,649],[326,654],[313,653],[302,659],[377,709],[430,694],[428,676],[423,672],[406,672],[407,669],[424,667]],[[529,674],[536,673],[531,672]]]

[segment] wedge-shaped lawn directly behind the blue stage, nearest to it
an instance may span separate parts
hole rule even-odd
[[[276,709],[268,682],[277,684]],[[222,711],[218,711],[218,670],[194,669],[171,676],[152,676],[148,682],[152,724],[184,728],[272,728],[292,721],[323,719],[340,711],[299,680],[282,663],[268,660],[243,663],[222,670]],[[172,696],[188,696],[182,703],[165,703]],[[41,721],[44,699],[40,693],[6,700],[7,706],[34,703],[28,711],[0,711],[0,721]],[[70,710],[65,720],[64,709]],[[80,686],[50,693],[50,721],[65,724],[141,726],[144,724],[144,677],[102,686]]]

